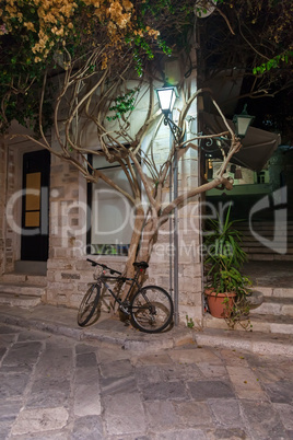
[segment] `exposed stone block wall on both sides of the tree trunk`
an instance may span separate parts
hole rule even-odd
[[[159,151],[161,154],[164,150],[162,143],[163,137],[160,143],[162,151]],[[197,158],[194,155],[195,152],[187,153],[184,163],[179,161],[179,193],[187,192],[191,187],[190,180],[195,180],[197,184]],[[166,187],[165,197],[168,199],[168,187]],[[195,322],[200,322],[202,289],[197,198],[186,201],[178,209],[177,222],[179,320],[186,323],[186,315],[188,315]],[[160,230],[146,281],[146,283],[162,286],[167,291],[171,290],[169,255],[174,254],[173,241],[169,241],[169,228],[171,223],[167,221]],[[48,303],[79,306],[89,283],[93,280],[93,268],[86,262],[85,239],[86,182],[73,166],[61,162],[58,158],[51,158],[50,239],[46,299]],[[98,258],[118,270],[126,260],[122,256],[92,256],[92,258]]]

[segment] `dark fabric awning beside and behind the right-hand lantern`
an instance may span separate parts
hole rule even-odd
[[[227,124],[233,131],[235,131],[233,121],[227,119]],[[226,131],[226,126],[220,116],[203,113],[202,131],[204,135],[215,135]],[[280,135],[249,127],[245,138],[242,139],[243,147],[233,155],[231,163],[245,166],[253,171],[261,171],[280,143]],[[228,144],[225,147],[225,144],[222,143],[222,146],[225,151],[228,150]],[[206,142],[204,151],[211,153],[213,158],[222,159],[221,151],[216,148],[215,142],[213,142],[212,146]]]

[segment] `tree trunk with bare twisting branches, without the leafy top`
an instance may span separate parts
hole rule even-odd
[[[65,60],[62,60],[65,62]],[[216,176],[208,183],[176,197],[166,204],[164,192],[169,185],[168,175],[173,165],[176,149],[184,154],[189,148],[198,148],[198,141],[204,136],[196,136],[184,141],[181,136],[179,142],[173,142],[166,153],[164,163],[157,164],[154,160],[153,140],[163,123],[163,115],[154,103],[154,74],[149,72],[142,79],[136,80],[131,73],[131,61],[125,63],[124,69],[116,71],[105,69],[103,72],[92,73],[86,66],[78,67],[71,62],[70,56],[66,60],[67,70],[63,74],[55,78],[58,90],[55,96],[54,130],[58,141],[51,144],[44,132],[42,124],[43,102],[46,90],[46,80],[43,84],[43,93],[39,107],[39,132],[40,139],[24,135],[27,139],[36,142],[39,147],[46,148],[50,153],[71,163],[86,178],[87,182],[96,183],[104,181],[109,187],[126,197],[133,207],[134,225],[130,241],[128,259],[124,269],[126,276],[132,275],[132,263],[136,258],[149,260],[157,233],[162,224],[167,220],[174,208],[179,207],[191,197],[222,185],[226,189],[232,188],[232,181],[226,177],[226,166],[235,152],[241,148],[241,141],[230,128],[226,119],[210,95],[212,103],[222,117],[226,130],[214,137],[226,136],[231,141],[227,153],[223,154],[223,164]],[[131,88],[132,84],[132,88]],[[186,130],[186,115],[194,101],[202,93],[210,94],[209,90],[198,90],[188,95],[188,88],[183,84],[181,102],[178,126],[184,134]],[[139,128],[130,135],[130,117],[140,100],[148,97],[148,106],[144,120],[141,120]],[[115,123],[115,124],[114,124]],[[91,129],[95,130],[96,142],[89,147],[84,134]],[[152,136],[146,136],[152,132]],[[211,138],[207,135],[206,138]],[[148,139],[148,146],[142,143]],[[105,158],[108,162],[117,162],[129,182],[130,190],[126,192],[103,171],[94,170],[89,163],[87,155],[93,154]],[[142,195],[148,200],[142,202]]]

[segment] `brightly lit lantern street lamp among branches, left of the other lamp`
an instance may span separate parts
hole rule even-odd
[[[164,115],[164,124],[169,126],[171,131],[174,136],[174,139],[175,139],[176,143],[178,144],[183,131],[169,117],[169,115],[172,114],[175,101],[178,97],[177,89],[175,85],[168,85],[165,88],[156,89],[155,91],[156,91],[160,108]]]

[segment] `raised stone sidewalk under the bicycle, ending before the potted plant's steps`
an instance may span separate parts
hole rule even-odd
[[[1,306],[0,320],[14,326],[65,335],[75,340],[104,341],[130,350],[167,349],[194,340],[194,333],[187,327],[175,327],[161,334],[146,334],[104,314],[90,327],[79,327],[77,310],[42,304],[34,309]]]

